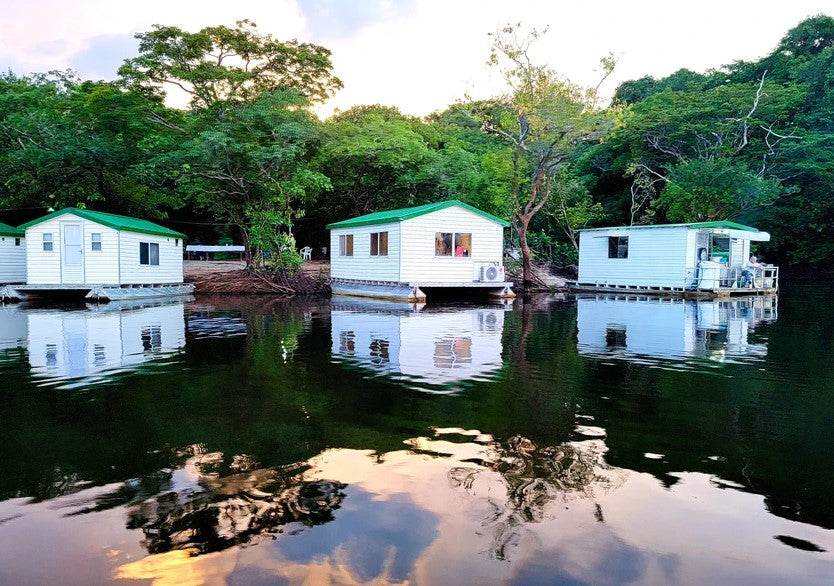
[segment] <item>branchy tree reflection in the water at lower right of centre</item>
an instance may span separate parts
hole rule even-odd
[[[494,444],[483,468],[453,468],[449,480],[452,486],[469,491],[484,469],[501,474],[506,500],[489,500],[492,511],[483,526],[492,535],[490,555],[504,560],[508,549],[521,541],[525,525],[544,521],[554,501],[593,499],[598,490],[614,488],[611,476],[602,473],[611,471],[603,462],[604,451],[598,441],[538,447],[526,437],[515,436]],[[594,507],[594,516],[603,521],[599,505]]]

